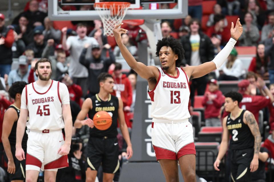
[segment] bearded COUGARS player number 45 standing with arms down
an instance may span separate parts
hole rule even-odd
[[[38,80],[26,85],[21,96],[15,156],[18,160],[25,159],[21,141],[29,115],[26,181],[37,181],[40,169],[45,170],[46,182],[55,181],[57,170],[68,166],[72,135],[69,94],[65,84],[50,79],[51,72],[48,59],[37,61],[35,73]]]

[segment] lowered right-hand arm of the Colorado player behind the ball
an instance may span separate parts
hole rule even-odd
[[[129,137],[129,133],[128,133],[128,127],[126,125],[126,121],[125,121],[125,116],[124,116],[124,111],[123,111],[123,101],[121,98],[119,99],[119,109],[118,109],[118,122],[120,125],[120,129],[122,132],[122,135],[126,141],[126,144],[128,145],[128,147],[126,148],[126,153],[128,155],[128,159],[130,159],[132,157],[133,151],[132,151],[132,144],[130,142],[130,137]]]

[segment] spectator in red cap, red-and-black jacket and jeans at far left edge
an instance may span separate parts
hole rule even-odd
[[[12,44],[14,42],[13,29],[5,26],[5,16],[0,13],[0,75],[4,76],[11,71]]]

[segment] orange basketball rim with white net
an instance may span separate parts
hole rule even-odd
[[[104,35],[114,36],[112,30],[115,25],[122,23],[129,7],[130,3],[127,2],[94,3],[94,9],[98,12],[103,23]]]

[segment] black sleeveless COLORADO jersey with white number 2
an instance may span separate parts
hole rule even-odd
[[[232,136],[229,142],[229,148],[232,150],[254,147],[254,136],[248,125],[243,122],[243,114],[245,111],[246,110],[242,110],[240,116],[235,120],[231,119],[231,114],[227,116],[226,126]]]

